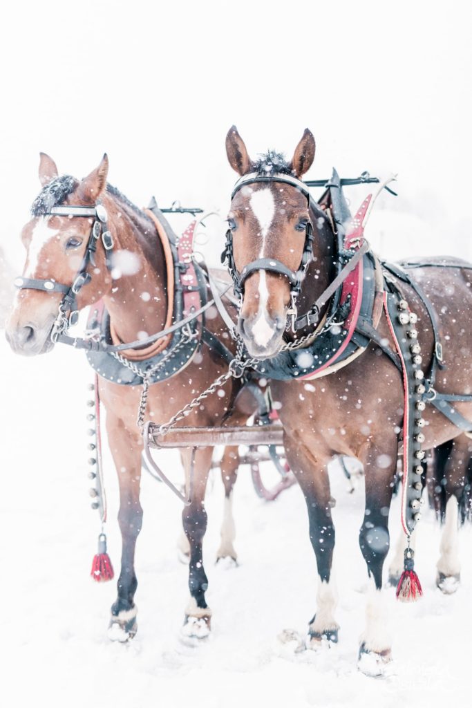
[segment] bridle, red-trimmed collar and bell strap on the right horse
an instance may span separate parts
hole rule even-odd
[[[364,181],[362,176],[359,181]],[[297,331],[302,326],[315,325],[311,336],[302,337],[298,343],[297,340],[287,343],[273,358],[253,360],[252,368],[255,375],[269,379],[309,379],[326,376],[362,354],[371,341],[393,361],[401,372],[405,399],[402,523],[408,536],[405,569],[407,565],[408,569],[410,565],[413,569],[413,551],[409,546],[409,538],[421,515],[422,459],[425,457],[425,452],[421,449],[422,443],[425,442],[425,434],[422,432],[425,420],[422,418],[422,411],[425,410],[427,403],[431,403],[460,430],[472,430],[471,421],[467,421],[451,405],[454,401],[472,401],[472,394],[440,394],[434,389],[437,370],[444,366],[437,318],[422,288],[408,273],[408,269],[420,267],[422,264],[393,265],[378,261],[364,239],[364,225],[374,199],[369,195],[354,219],[351,219],[343,196],[342,182],[336,171],[333,171],[332,178],[326,184],[327,190],[319,204],[313,202],[304,183],[297,178],[279,173],[267,176],[251,173],[244,176],[236,183],[231,198],[243,185],[255,182],[288,183],[306,196],[308,205],[315,214],[318,214],[320,206],[326,210],[326,213],[322,212],[323,221],[318,220],[317,224],[324,226],[326,215],[330,216],[337,246],[337,275],[311,306],[309,312],[305,316],[298,317],[296,312],[293,314],[293,310],[296,311],[295,301],[301,290],[301,281],[307,265],[311,261],[313,245],[311,223],[307,224],[301,263],[294,273],[287,273],[284,263],[269,258],[260,258],[248,263],[241,273],[238,273],[234,263],[231,229],[226,233],[226,248],[222,260],[229,266],[239,297],[243,293],[244,281],[251,273],[256,270],[279,273],[287,277],[291,285],[292,312],[289,314],[292,315],[292,330]],[[350,183],[356,182],[350,181]],[[381,188],[383,187],[386,187],[386,184],[381,185]],[[350,226],[346,230],[347,222]],[[436,263],[426,265],[436,265]],[[447,263],[440,265],[447,267]],[[455,264],[450,265],[454,267]],[[472,268],[472,265],[466,263],[457,265],[461,268]],[[352,275],[347,279],[348,273]],[[420,302],[424,304],[431,321],[434,348],[426,375],[421,368],[421,348],[418,343],[418,331],[415,328],[418,316],[410,311],[402,292],[402,282],[413,288]],[[318,323],[321,307],[326,303],[328,303],[326,315],[323,321]],[[395,350],[386,343],[377,330],[382,311],[386,316]]]

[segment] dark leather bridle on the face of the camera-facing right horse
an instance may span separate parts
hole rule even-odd
[[[231,201],[233,200],[234,195],[242,187],[257,182],[281,182],[292,185],[305,195],[308,206],[311,204],[311,195],[309,190],[306,188],[306,185],[296,177],[284,173],[265,176],[251,172],[244,175],[236,182],[236,185],[234,185],[234,190],[231,194]],[[313,257],[313,224],[311,224],[310,221],[306,224],[304,249],[301,254],[301,261],[297,270],[287,268],[287,265],[282,263],[282,261],[277,261],[277,258],[257,258],[255,261],[251,261],[251,263],[245,265],[241,270],[241,273],[239,273],[234,261],[232,233],[233,232],[231,232],[231,229],[228,229],[226,232],[226,244],[223,253],[221,253],[221,263],[226,263],[231,278],[234,282],[234,292],[236,293],[236,296],[239,299],[242,299],[244,282],[250,275],[252,275],[252,273],[255,273],[256,270],[267,270],[270,273],[284,275],[290,283],[291,305],[287,311],[287,316],[289,316],[292,329],[294,329],[294,323],[297,319],[297,297],[301,291],[301,283],[304,279],[306,268]]]

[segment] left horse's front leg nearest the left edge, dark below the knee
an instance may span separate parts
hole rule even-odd
[[[134,593],[137,588],[134,573],[134,549],[142,527],[142,508],[139,503],[142,442],[138,433],[131,433],[119,418],[108,413],[107,431],[120,485],[118,523],[122,536],[121,570],[118,595],[111,607],[108,636],[113,641],[127,641],[137,632],[137,607]]]

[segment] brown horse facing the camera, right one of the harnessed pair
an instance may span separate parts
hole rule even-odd
[[[315,140],[308,129],[289,161],[275,151],[254,161],[235,126],[226,135],[226,154],[239,176],[231,195],[226,249],[222,255],[241,299],[238,333],[255,370],[272,379],[272,396],[280,404],[278,412],[284,428],[287,460],[304,493],[309,535],[316,556],[317,609],[309,622],[309,646],[318,648],[323,639],[338,641],[337,595],[331,574],[335,528],[327,466],[334,455],[346,455],[363,464],[365,475],[365,511],[359,545],[367,564],[370,590],[358,666],[366,673],[381,674],[392,658],[382,572],[389,547],[388,514],[399,438],[406,420],[403,376],[395,363],[400,339],[396,342],[386,313],[386,288],[403,292],[404,299],[396,301],[395,319],[404,323],[403,341],[413,361],[416,365],[422,362],[424,369],[434,361],[437,382],[431,397],[437,396],[439,400],[451,389],[458,393],[465,391],[461,402],[456,404],[455,419],[460,416],[470,421],[472,331],[466,326],[466,317],[472,308],[471,265],[447,258],[419,260],[412,264],[407,278],[395,266],[387,273],[386,265],[380,266],[369,251],[369,263],[373,264],[371,280],[375,282],[375,293],[379,294],[379,307],[375,309],[376,295],[373,305],[375,326],[368,332],[364,329],[367,336],[362,340],[363,346],[343,360],[343,365],[335,363],[320,370],[321,375],[307,384],[307,372],[316,372],[318,366],[309,353],[312,351],[309,344],[316,343],[323,333],[329,338],[328,354],[323,352],[323,357],[325,354],[329,357],[331,347],[339,346],[338,342],[348,334],[343,324],[352,312],[350,298],[355,302],[356,295],[352,290],[354,278],[349,274],[344,281],[348,288],[352,286],[342,303],[346,307],[328,318],[331,312],[328,307],[341,287],[337,287],[336,280],[336,274],[340,273],[338,263],[342,265],[344,258],[353,257],[360,244],[366,249],[368,244],[361,236],[356,243],[352,241],[347,252],[339,249],[336,239],[343,228],[342,219],[330,209],[328,201],[322,198],[317,203],[310,198],[302,181],[315,156]],[[340,183],[333,184],[332,193],[339,186]],[[363,203],[362,209],[367,203]],[[362,215],[356,215],[353,227],[358,228],[361,221]],[[363,263],[367,268],[365,260]],[[424,297],[418,294],[420,284]],[[447,343],[444,358],[436,341],[437,330]],[[298,357],[290,360],[290,366],[297,366],[296,374],[291,376],[285,375],[289,367],[287,350]],[[279,372],[283,375],[277,379]],[[414,376],[418,384],[415,395],[420,396],[425,392],[426,379],[423,383],[422,370],[415,371]],[[453,440],[461,428],[436,407],[427,406],[423,411],[425,403],[419,398],[415,406],[418,426],[414,456],[418,466],[425,450]],[[414,469],[418,477],[421,468]],[[414,489],[421,490],[419,479]],[[419,499],[415,498],[411,506],[413,510],[418,508]],[[415,511],[413,518],[418,520],[419,515]]]

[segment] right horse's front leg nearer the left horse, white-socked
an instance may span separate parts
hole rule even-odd
[[[323,455],[322,445],[308,450],[297,438],[284,440],[290,469],[304,493],[309,517],[310,541],[316,556],[318,591],[316,613],[309,622],[309,648],[318,649],[324,641],[338,641],[339,624],[334,613],[338,595],[331,573],[335,546],[335,528],[331,516],[328,462],[330,453]],[[316,452],[313,452],[315,450]]]

